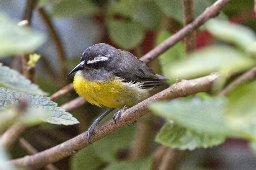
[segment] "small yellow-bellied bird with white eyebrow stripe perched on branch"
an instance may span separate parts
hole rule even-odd
[[[150,90],[162,86],[163,82],[168,80],[155,74],[146,63],[132,53],[106,43],[86,48],[79,64],[68,76],[74,72],[76,74],[73,86],[79,96],[93,105],[110,107],[89,127],[89,143],[90,137],[95,135],[94,128],[111,111],[138,104],[148,98]],[[115,123],[121,111],[122,109],[114,115]]]

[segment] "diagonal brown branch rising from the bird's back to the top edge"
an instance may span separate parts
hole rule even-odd
[[[190,24],[184,26],[180,31],[173,34],[171,37],[166,39],[164,42],[162,42],[160,45],[158,45],[156,48],[153,48],[150,50],[147,54],[142,56],[140,60],[144,61],[145,63],[150,62],[154,58],[156,58],[158,55],[162,54],[164,51],[166,51],[168,48],[172,47],[175,43],[180,41],[182,38],[184,38],[188,33],[195,30],[202,24],[204,24],[208,19],[216,17],[220,10],[231,0],[218,0],[212,6],[206,8],[206,10],[199,15],[193,22]]]

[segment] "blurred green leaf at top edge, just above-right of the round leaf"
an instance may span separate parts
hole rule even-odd
[[[142,24],[146,29],[156,29],[161,24],[161,10],[154,1],[142,1],[132,19]]]

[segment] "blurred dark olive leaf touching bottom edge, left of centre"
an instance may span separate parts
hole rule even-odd
[[[104,165],[104,162],[95,154],[91,146],[88,146],[71,157],[71,170],[86,169],[95,170]]]

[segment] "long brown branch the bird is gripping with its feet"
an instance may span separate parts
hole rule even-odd
[[[98,125],[94,129],[96,135],[91,137],[91,142],[93,143],[127,124],[132,124],[138,118],[147,114],[149,112],[147,107],[149,102],[157,100],[172,100],[174,98],[185,97],[198,92],[209,91],[213,81],[218,77],[219,76],[217,74],[212,74],[202,78],[181,80],[180,82],[175,83],[164,91],[161,91],[154,96],[151,96],[150,98],[140,102],[139,104],[127,109],[120,115],[117,125],[112,118]],[[31,156],[13,159],[11,162],[19,166],[40,168],[49,163],[56,162],[67,156],[75,154],[84,147],[88,146],[89,143],[86,140],[86,136],[87,131],[50,149]]]

